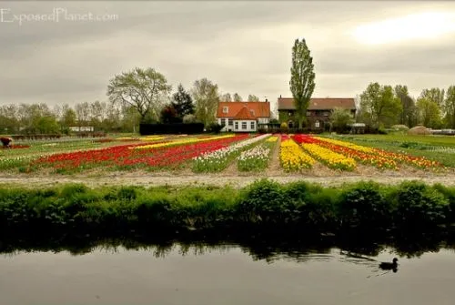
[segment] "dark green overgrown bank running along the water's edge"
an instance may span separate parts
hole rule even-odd
[[[258,180],[248,188],[0,188],[0,239],[50,236],[300,237],[331,233],[445,231],[455,188],[361,182],[323,188]]]

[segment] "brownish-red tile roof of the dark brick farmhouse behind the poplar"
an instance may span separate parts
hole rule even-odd
[[[338,98],[338,97],[326,97],[326,98],[311,98],[309,100],[308,110],[329,110],[335,107],[341,107],[346,109],[356,109],[356,102],[354,98]],[[294,110],[294,98],[292,97],[278,97],[278,110]]]

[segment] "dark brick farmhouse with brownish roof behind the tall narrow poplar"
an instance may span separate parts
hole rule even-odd
[[[311,98],[307,109],[307,127],[329,128],[329,120],[335,108],[344,108],[350,111],[353,118],[356,117],[356,103],[354,98]],[[298,127],[294,98],[278,97],[278,119],[279,123],[287,123],[289,128]]]

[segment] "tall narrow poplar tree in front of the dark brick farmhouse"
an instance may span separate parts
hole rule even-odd
[[[313,57],[310,56],[307,42],[303,38],[301,41],[296,39],[292,47],[290,74],[289,89],[292,92],[292,97],[294,97],[298,128],[301,128],[307,115],[309,100],[315,88]]]

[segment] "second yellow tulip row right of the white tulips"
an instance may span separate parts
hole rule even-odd
[[[318,144],[302,143],[302,147],[309,153],[309,155],[318,159],[329,168],[342,170],[353,170],[356,168],[356,161],[353,158],[345,157],[331,151],[328,148],[320,147]]]

